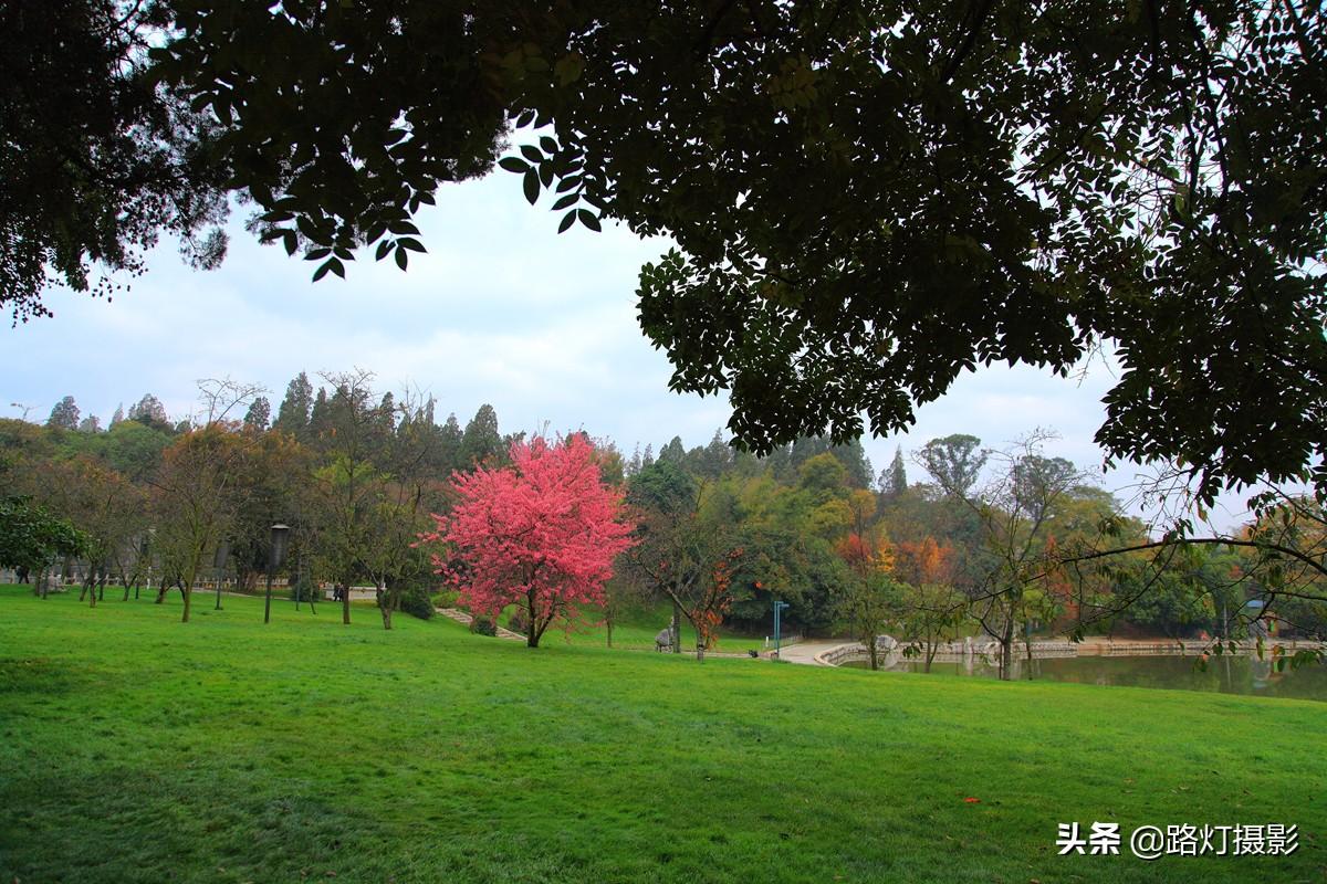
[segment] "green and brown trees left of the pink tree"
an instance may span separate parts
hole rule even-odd
[[[390,628],[406,591],[430,582],[414,543],[429,513],[446,509],[450,473],[502,459],[510,440],[490,406],[462,429],[454,415],[437,424],[434,402],[418,394],[378,396],[369,372],[322,380],[314,392],[307,375],[295,378],[273,425],[261,391],[230,380],[200,382],[199,408],[186,420],[173,424],[145,396],[151,407],[105,432],[72,429],[61,415],[73,417],[77,406],[65,398],[45,428],[0,421],[0,493],[78,530],[85,543],[60,557],[86,562],[85,592],[107,579],[137,584],[155,570],[158,598],[178,587],[186,620],[194,587],[214,567],[252,587],[268,526],[288,522],[289,577],[305,598],[318,582],[345,590],[369,580]],[[93,603],[102,594],[92,592]],[[340,595],[349,622],[349,594]]]

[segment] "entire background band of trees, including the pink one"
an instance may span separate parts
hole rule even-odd
[[[284,521],[305,598],[366,580],[390,628],[450,580],[475,611],[520,608],[532,644],[583,607],[610,630],[641,599],[669,600],[702,655],[721,624],[763,631],[779,599],[802,630],[894,632],[928,665],[942,641],[983,634],[1005,671],[1019,639],[1046,632],[1233,639],[1254,610],[1304,635],[1327,623],[1320,504],[1269,492],[1238,534],[1156,537],[1047,456],[1046,433],[1003,451],[932,440],[912,459],[925,481],[910,482],[901,451],[876,476],[856,443],[758,457],[715,433],[622,457],[583,433],[503,436],[488,406],[464,429],[439,425],[431,399],[380,396],[364,371],[322,380],[293,379],[271,424],[260,391],[232,382],[204,382],[198,416],[174,431],[142,410],[109,432],[5,421],[3,492],[68,520],[85,591],[157,567],[186,619],[218,551],[252,584]]]

